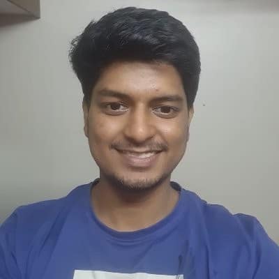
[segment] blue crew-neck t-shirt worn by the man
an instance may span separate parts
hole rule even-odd
[[[146,229],[117,232],[92,211],[97,182],[16,209],[0,227],[0,278],[279,278],[279,248],[257,219],[172,182],[180,192],[172,213]]]

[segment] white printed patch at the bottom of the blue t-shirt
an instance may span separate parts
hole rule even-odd
[[[75,270],[73,279],[183,279],[183,275]]]

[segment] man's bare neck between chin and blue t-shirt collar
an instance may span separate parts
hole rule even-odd
[[[170,186],[170,177],[155,188],[137,192],[117,188],[101,177],[91,199],[94,213],[107,227],[133,232],[165,218],[174,209],[179,193]]]

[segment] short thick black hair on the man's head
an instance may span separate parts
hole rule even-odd
[[[72,40],[69,58],[88,104],[101,71],[120,60],[171,64],[181,75],[188,107],[193,106],[199,48],[183,23],[167,12],[128,7],[107,13]]]

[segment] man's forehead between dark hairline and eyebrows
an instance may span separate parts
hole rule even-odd
[[[186,99],[181,76],[167,63],[117,61],[107,66],[93,89],[93,98],[102,91],[125,93],[130,98],[149,99],[164,95]]]

